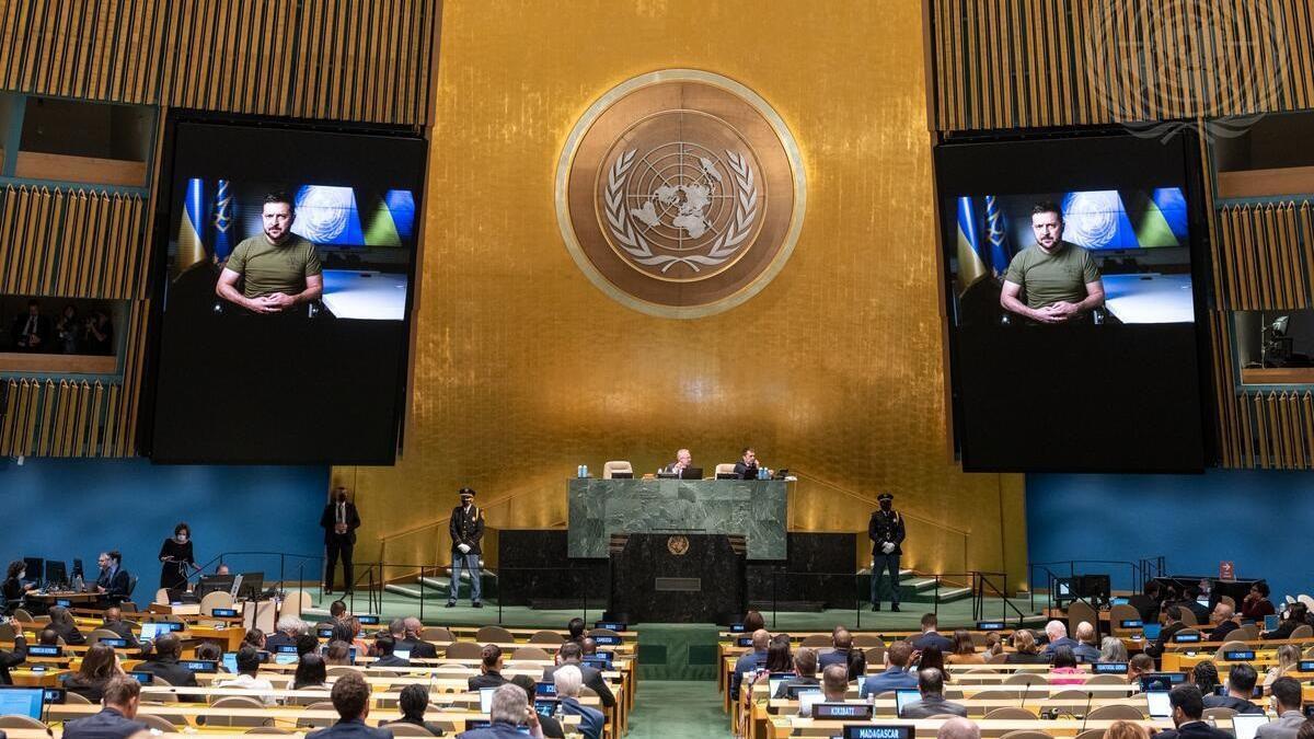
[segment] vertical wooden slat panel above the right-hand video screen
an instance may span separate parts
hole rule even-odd
[[[937,130],[1314,108],[1314,0],[926,1]]]

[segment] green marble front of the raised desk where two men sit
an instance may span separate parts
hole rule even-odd
[[[566,552],[606,559],[612,534],[742,534],[748,559],[784,559],[783,480],[598,480],[566,484]]]

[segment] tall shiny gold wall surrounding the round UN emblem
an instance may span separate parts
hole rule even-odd
[[[795,529],[865,530],[892,490],[915,518],[907,564],[1007,568],[1018,584],[1021,477],[963,475],[946,451],[921,13],[917,0],[444,3],[405,452],[335,469],[364,518],[357,561],[445,563],[461,485],[491,526],[561,526],[577,464],[650,472],[687,446],[710,471],[753,444],[804,475]],[[553,212],[576,120],[668,67],[765,97],[808,179],[779,276],[687,321],[593,287]]]

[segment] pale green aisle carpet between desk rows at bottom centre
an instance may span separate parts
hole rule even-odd
[[[729,722],[716,682],[640,681],[625,739],[728,739]]]

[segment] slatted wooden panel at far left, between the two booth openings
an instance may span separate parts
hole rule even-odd
[[[95,189],[0,191],[0,293],[146,297],[146,201]]]

